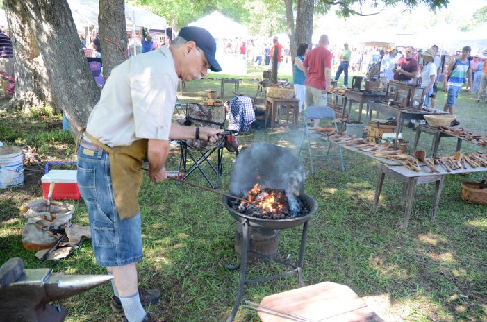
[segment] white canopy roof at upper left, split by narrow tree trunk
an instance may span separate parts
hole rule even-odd
[[[67,0],[67,3],[79,32],[83,33],[86,26],[98,26],[99,0]],[[165,18],[129,3],[125,3],[125,22],[129,27],[135,24],[135,28],[165,29],[167,26]]]

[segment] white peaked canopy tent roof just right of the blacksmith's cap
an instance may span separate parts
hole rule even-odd
[[[234,22],[218,11],[213,11],[210,15],[191,22],[188,26],[205,28],[217,39],[235,39],[236,37],[245,38],[248,36],[246,26]]]

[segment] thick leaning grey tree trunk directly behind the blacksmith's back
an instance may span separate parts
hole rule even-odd
[[[51,83],[54,100],[65,112],[72,132],[77,133],[85,127],[100,90],[86,62],[67,1],[4,0],[3,3],[8,3],[10,8],[18,5],[25,12],[26,19],[19,19],[25,23],[21,28],[35,31],[33,35],[47,69],[45,75]],[[22,10],[12,13],[17,17],[11,20],[22,18]],[[22,48],[15,47],[15,51]],[[22,81],[25,80],[18,80]]]

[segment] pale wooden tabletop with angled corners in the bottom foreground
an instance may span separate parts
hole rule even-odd
[[[301,316],[286,319],[276,314],[258,312],[262,322],[327,321],[327,322],[380,322],[367,303],[346,285],[322,282],[283,293],[265,296],[261,305],[281,312]],[[261,307],[265,310],[264,307]],[[260,310],[260,309],[259,309]],[[270,311],[267,311],[270,312]]]

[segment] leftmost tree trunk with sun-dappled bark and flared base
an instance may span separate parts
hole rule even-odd
[[[46,103],[54,110],[59,110],[35,39],[35,29],[28,23],[28,12],[22,1],[5,0],[3,4],[15,48],[15,94],[6,107],[22,106],[23,111],[27,112],[33,106]]]

